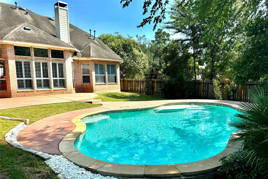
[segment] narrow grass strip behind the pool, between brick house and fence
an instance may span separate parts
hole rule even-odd
[[[101,99],[102,101],[155,101],[155,100],[168,100],[164,96],[154,96],[146,94],[136,93],[97,93],[98,97],[95,99]]]

